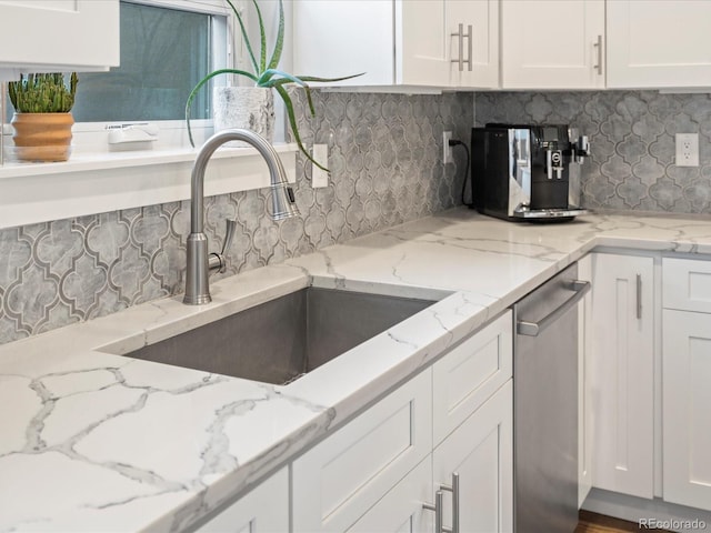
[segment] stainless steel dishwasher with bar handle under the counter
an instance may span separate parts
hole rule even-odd
[[[514,531],[578,524],[578,306],[590,282],[578,263],[514,306]]]

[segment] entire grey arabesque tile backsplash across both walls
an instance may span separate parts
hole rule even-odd
[[[237,215],[228,275],[460,203],[463,159],[441,161],[442,131],[469,142],[474,123],[570,123],[590,137],[582,203],[592,209],[711,213],[711,95],[655,91],[442,95],[316,92],[304,141],[329,144],[328,188],[299,157],[301,217],[266,215],[249,191],[207,200],[217,248]],[[298,95],[300,109],[303,99]],[[700,165],[674,164],[674,133],[699,133]],[[189,204],[174,202],[0,230],[0,343],[182,291]]]

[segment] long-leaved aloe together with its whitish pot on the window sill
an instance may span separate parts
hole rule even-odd
[[[259,22],[259,32],[260,32],[260,54],[259,59],[254,56],[254,49],[251,46],[249,37],[247,34],[247,29],[244,27],[244,21],[240,16],[239,10],[234,7],[231,0],[227,0],[227,3],[230,6],[230,9],[234,13],[237,18],[240,30],[242,32],[242,38],[244,39],[244,44],[247,48],[247,52],[249,54],[249,59],[252,66],[252,72],[241,69],[220,69],[213,72],[210,72],[202,80],[198,82],[198,84],[192,89],[190,95],[188,97],[188,102],[186,103],[186,121],[188,123],[188,137],[190,138],[190,144],[194,147],[194,141],[192,139],[192,131],[190,129],[190,107],[192,101],[200,91],[200,89],[212,78],[222,74],[237,74],[243,76],[251,81],[254,82],[253,87],[228,87],[228,88],[217,88],[216,89],[216,98],[214,98],[214,108],[216,108],[216,131],[224,129],[227,127],[234,127],[236,121],[239,121],[241,124],[248,124],[249,129],[256,131],[257,133],[266,137],[270,142],[273,137],[273,93],[271,89],[277,91],[277,93],[281,97],[284,102],[284,108],[287,110],[287,115],[289,118],[289,125],[291,127],[291,131],[293,133],[293,138],[299,145],[299,149],[303,154],[312,161],[317,167],[328,171],[326,167],[316,161],[308,150],[304,148],[301,135],[299,134],[299,128],[297,125],[297,119],[293,110],[293,102],[291,101],[291,97],[287,91],[286,86],[293,83],[304,89],[307,94],[307,101],[309,104],[309,111],[311,115],[316,115],[316,111],[313,109],[313,101],[311,99],[311,90],[309,88],[309,82],[330,82],[330,81],[341,81],[348,80],[350,78],[356,78],[361,74],[346,76],[342,78],[318,78],[313,76],[293,76],[287,72],[283,72],[278,69],[279,61],[281,60],[281,52],[283,50],[283,40],[284,40],[284,11],[282,0],[279,0],[279,30],[277,32],[277,39],[274,42],[274,49],[271,53],[271,58],[269,61],[267,60],[267,34],[264,31],[264,22],[262,19],[261,11],[257,3],[257,0],[252,0],[252,6],[257,11],[257,20]],[[243,93],[249,92],[250,95],[247,97],[249,103],[243,100]],[[236,95],[237,94],[237,95]],[[224,119],[226,118],[226,119]],[[271,122],[270,120],[271,119]],[[262,120],[266,120],[266,124],[262,123]]]

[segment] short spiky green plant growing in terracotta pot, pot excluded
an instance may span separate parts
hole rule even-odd
[[[18,113],[68,113],[74,104],[77,94],[77,72],[64,74],[27,74],[19,81],[8,83],[10,102]]]

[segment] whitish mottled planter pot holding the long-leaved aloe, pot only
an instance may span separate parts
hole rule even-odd
[[[213,97],[214,132],[241,128],[274,140],[274,93],[263,87],[216,87]],[[247,147],[234,141],[228,145]]]

